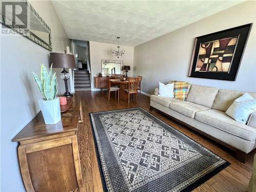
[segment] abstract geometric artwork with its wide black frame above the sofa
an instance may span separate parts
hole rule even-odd
[[[188,76],[235,81],[251,26],[196,37]]]

